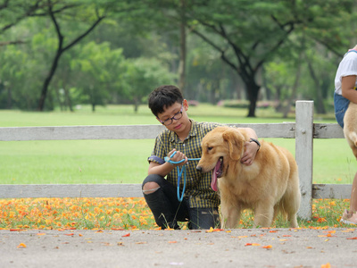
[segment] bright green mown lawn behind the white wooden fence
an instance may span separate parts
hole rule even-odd
[[[294,114],[282,119],[274,111],[258,110],[257,118],[246,118],[246,110],[213,105],[190,107],[196,121],[222,123],[266,123],[295,121]],[[316,116],[315,122],[335,122],[333,116]],[[98,107],[95,113],[83,106],[70,112],[0,111],[0,127],[157,124],[149,109],[131,105]],[[265,138],[295,154],[295,139]],[[0,142],[0,183],[140,183],[146,176],[154,139],[61,140]],[[313,151],[314,183],[352,183],[357,171],[345,139],[316,139]]]

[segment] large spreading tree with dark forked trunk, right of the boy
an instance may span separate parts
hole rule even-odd
[[[164,2],[166,3],[166,2]],[[187,28],[220,52],[221,59],[237,71],[250,100],[248,116],[255,116],[261,85],[257,80],[262,64],[270,61],[299,25],[316,28],[320,21],[351,11],[352,1],[186,1]],[[163,12],[182,21],[178,8]],[[320,6],[324,6],[321,13]],[[159,7],[160,8],[160,7]],[[177,13],[173,13],[176,11]],[[212,37],[219,37],[220,41]]]

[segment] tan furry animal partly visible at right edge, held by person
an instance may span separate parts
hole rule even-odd
[[[344,117],[344,134],[348,145],[357,158],[357,105],[350,102]]]

